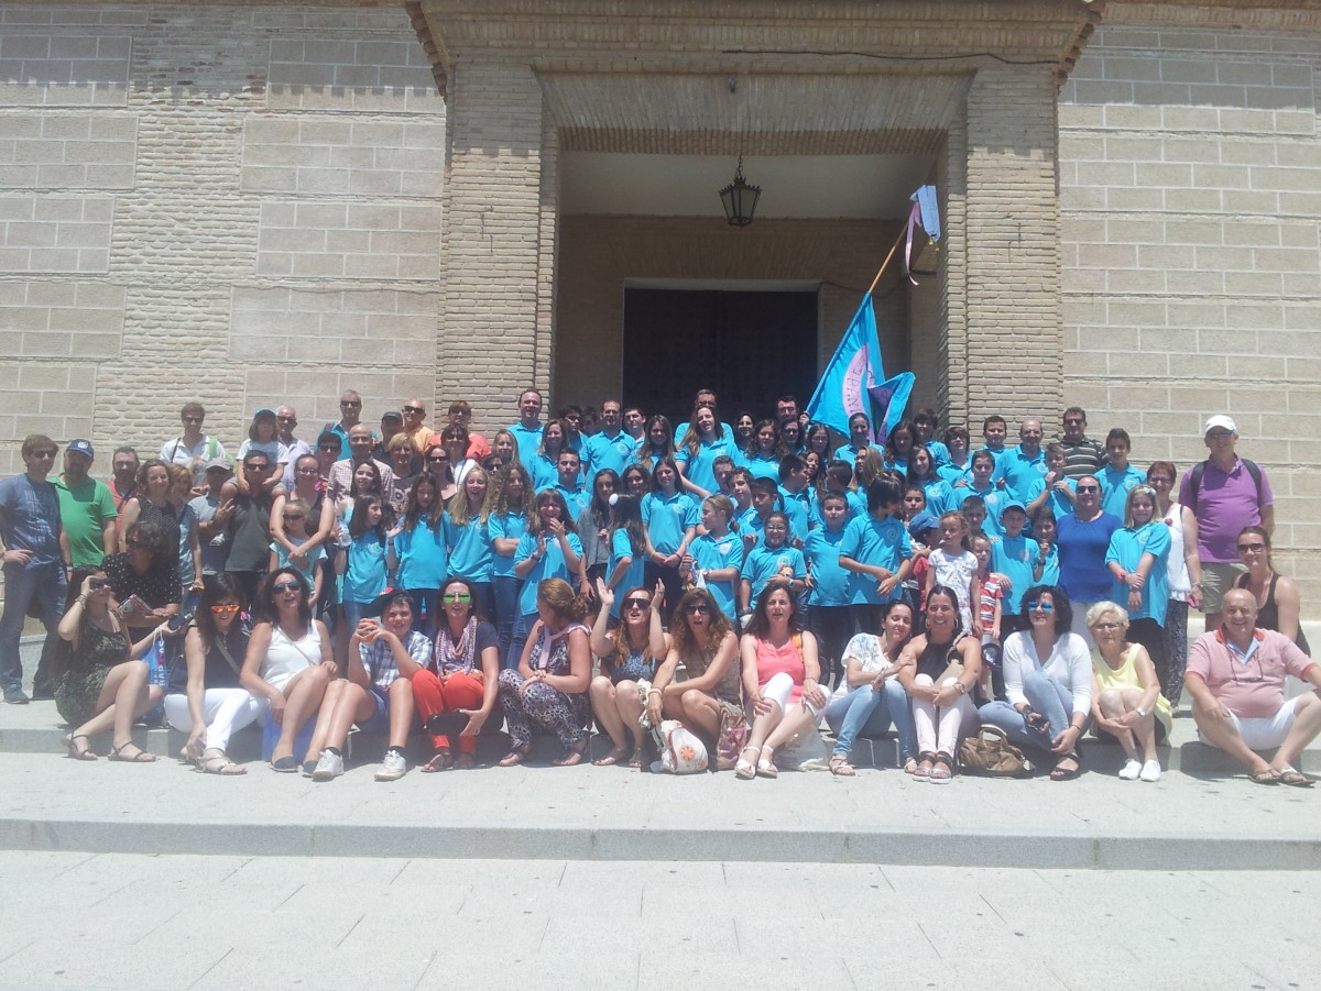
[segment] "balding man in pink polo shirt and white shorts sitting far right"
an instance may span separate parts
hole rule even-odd
[[[1223,625],[1188,652],[1185,687],[1198,736],[1242,761],[1256,784],[1308,788],[1312,779],[1293,761],[1321,732],[1321,666],[1283,633],[1258,628],[1256,599],[1246,589],[1225,594],[1223,615]],[[1316,690],[1285,699],[1287,674]],[[1269,763],[1255,752],[1276,747]]]

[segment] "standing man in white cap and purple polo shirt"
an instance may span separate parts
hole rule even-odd
[[[1202,428],[1211,457],[1194,464],[1178,487],[1178,501],[1197,517],[1197,557],[1202,562],[1201,594],[1206,629],[1221,627],[1221,600],[1243,570],[1238,534],[1244,527],[1275,530],[1275,497],[1266,472],[1234,453],[1238,426],[1225,416],[1213,416]]]

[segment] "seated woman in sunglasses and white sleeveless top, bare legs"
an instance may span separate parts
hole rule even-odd
[[[321,707],[326,685],[339,677],[325,624],[312,618],[312,590],[295,569],[271,573],[258,589],[259,619],[248,639],[239,685],[271,706],[267,719],[280,730],[271,769],[299,769],[293,744]],[[314,761],[309,748],[306,761]]]

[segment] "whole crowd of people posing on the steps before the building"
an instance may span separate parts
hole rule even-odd
[[[116,449],[107,482],[89,441],[52,479],[58,446],[28,437],[0,480],[5,701],[29,702],[32,615],[33,694],[81,760],[106,731],[111,760],[155,760],[131,728],[162,713],[215,775],[246,771],[229,742],[259,720],[269,767],[314,780],[345,772],[354,726],[387,736],[386,781],[415,728],[440,772],[501,723],[502,767],[538,732],[556,764],[589,760],[593,724],[594,763],[642,767],[645,726],[676,720],[712,753],[734,740],[756,779],[824,723],[834,773],[893,727],[904,772],[946,784],[982,726],[1053,780],[1078,777],[1090,735],[1122,747],[1122,779],[1156,781],[1186,687],[1203,742],[1252,781],[1312,784],[1293,764],[1321,731],[1321,668],[1227,416],[1180,475],[1131,464],[1120,428],[1089,437],[1078,408],[1012,446],[987,417],[976,447],[930,409],[882,445],[865,416],[844,437],[790,396],[727,424],[709,391],[676,426],[617,400],[543,421],[528,389],[490,441],[462,401],[440,429],[416,399],[379,429],[357,392],[339,410],[308,442],[295,409],[258,409],[231,459],[189,402],[151,457]],[[1317,691],[1285,698],[1287,676]]]

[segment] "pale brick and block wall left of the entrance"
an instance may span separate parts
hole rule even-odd
[[[0,5],[0,474],[431,397],[444,169],[402,4]]]

